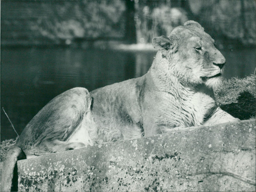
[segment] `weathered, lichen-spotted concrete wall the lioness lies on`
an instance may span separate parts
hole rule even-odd
[[[18,161],[19,191],[255,191],[255,120]]]

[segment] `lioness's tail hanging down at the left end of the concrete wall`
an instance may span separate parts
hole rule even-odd
[[[18,191],[18,171],[15,167],[23,155],[21,148],[15,145],[1,162],[1,191]]]

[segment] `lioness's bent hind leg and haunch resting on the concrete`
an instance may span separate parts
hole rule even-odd
[[[97,127],[90,106],[91,98],[85,88],[61,93],[28,123],[18,145],[29,157],[92,146]]]

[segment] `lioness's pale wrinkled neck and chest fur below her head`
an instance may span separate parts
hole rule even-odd
[[[159,105],[163,114],[170,110],[176,114],[177,119],[172,117],[175,126],[199,126],[216,106],[213,91],[204,84],[184,83],[186,76],[179,73],[182,69],[175,68],[179,61],[173,62],[177,63],[170,64],[158,52],[147,73],[148,84],[162,97]],[[168,119],[163,117],[161,121],[166,123]]]

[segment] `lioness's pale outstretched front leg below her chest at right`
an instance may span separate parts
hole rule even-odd
[[[214,124],[228,123],[234,121],[239,122],[240,119],[231,116],[226,111],[223,111],[220,107],[217,107],[213,111],[212,116],[209,119],[207,119],[203,125],[210,126]]]

